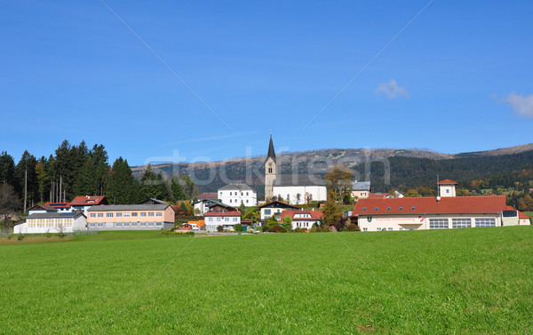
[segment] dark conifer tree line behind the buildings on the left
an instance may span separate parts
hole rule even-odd
[[[37,158],[26,150],[17,164],[2,151],[0,187],[3,212],[22,209],[25,197],[29,208],[36,203],[70,202],[76,195],[106,195],[109,203],[130,204],[147,198],[175,202],[198,194],[187,175],[165,179],[162,171],[156,172],[148,164],[139,180],[123,157],[110,165],[103,145],[88,148],[85,141],[76,146],[68,140],[48,157]]]

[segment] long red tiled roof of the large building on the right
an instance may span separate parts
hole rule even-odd
[[[359,199],[353,214],[494,213],[505,208],[505,195],[444,196],[439,202],[434,196],[425,196]]]

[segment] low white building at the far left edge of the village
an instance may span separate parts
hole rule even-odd
[[[87,230],[87,219],[81,212],[34,212],[13,228],[15,234],[73,233],[77,230]]]

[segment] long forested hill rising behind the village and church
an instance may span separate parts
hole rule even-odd
[[[278,155],[278,173],[308,173],[324,175],[331,164],[346,164],[358,179],[364,179],[364,162],[370,158],[370,180],[373,192],[385,192],[391,188],[405,190],[410,187],[436,188],[440,179],[454,179],[469,184],[473,179],[486,179],[490,187],[513,187],[516,181],[527,183],[533,166],[533,144],[513,148],[446,155],[428,150],[399,149],[323,149]],[[200,192],[215,191],[232,182],[248,182],[263,195],[262,176],[265,157],[234,159],[211,164],[159,164],[154,165],[170,175],[193,174],[199,183]],[[390,165],[391,182],[384,179],[385,164]],[[144,167],[134,167],[138,178]],[[247,178],[248,174],[248,178]],[[520,179],[520,180],[517,180]],[[523,180],[522,180],[523,179]],[[532,178],[533,179],[533,178]],[[225,181],[226,180],[226,181]],[[524,185],[526,185],[524,183]],[[461,186],[461,185],[460,185]]]

